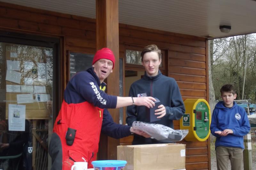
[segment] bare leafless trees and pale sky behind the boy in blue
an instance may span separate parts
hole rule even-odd
[[[236,88],[237,99],[242,99],[244,89],[244,98],[256,102],[256,34],[214,39],[212,51],[215,96],[220,99],[220,87],[231,83]]]

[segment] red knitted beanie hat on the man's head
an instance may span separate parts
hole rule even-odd
[[[94,58],[92,60],[92,65],[100,60],[100,59],[108,59],[111,60],[113,62],[113,67],[112,69],[114,69],[114,65],[115,65],[115,56],[113,54],[113,52],[109,49],[109,48],[102,48],[100,50],[98,50],[96,52],[96,54],[94,55]]]

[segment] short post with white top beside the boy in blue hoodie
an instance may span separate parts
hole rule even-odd
[[[244,169],[252,170],[252,139],[251,131],[244,136]]]

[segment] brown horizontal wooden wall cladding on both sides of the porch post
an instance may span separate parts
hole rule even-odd
[[[26,32],[62,38],[63,59],[66,51],[95,53],[95,19],[61,14],[35,8],[0,2],[0,28],[2,30]],[[207,99],[207,43],[206,39],[119,24],[119,57],[124,57],[127,46],[143,48],[156,44],[166,51],[168,76],[177,81],[183,100],[187,98]],[[67,61],[64,61],[67,62]],[[65,67],[65,63],[63,67]],[[179,129],[179,121],[174,121]],[[132,136],[120,139],[120,144],[130,145]],[[209,141],[186,142],[186,169],[210,168]]]

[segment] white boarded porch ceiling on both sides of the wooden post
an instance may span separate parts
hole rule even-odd
[[[95,17],[95,0],[0,0]],[[119,0],[119,22],[167,32],[219,38],[256,32],[255,0]],[[220,25],[230,25],[229,33]]]

